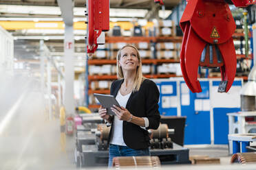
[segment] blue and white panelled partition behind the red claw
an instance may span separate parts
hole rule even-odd
[[[235,79],[228,93],[217,93],[217,79],[200,80],[202,93],[191,93],[182,78],[155,82],[160,90],[160,114],[186,117],[185,145],[228,144],[226,113],[239,111],[242,79]]]

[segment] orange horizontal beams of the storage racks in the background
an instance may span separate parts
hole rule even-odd
[[[240,36],[244,36],[244,33],[235,33],[233,34],[233,38],[237,39]],[[249,35],[250,36],[250,35]],[[182,42],[182,36],[106,36],[105,39],[107,44],[116,43],[116,42],[125,42],[125,43],[138,43],[138,42],[148,42],[148,43],[158,43],[158,42],[174,42],[174,43],[181,43]],[[177,49],[176,49],[177,50]],[[245,58],[245,55],[243,54],[237,54],[237,59]],[[251,59],[251,55],[248,56],[248,58],[245,59]],[[180,59],[178,58],[169,58],[169,59],[158,59],[156,56],[153,56],[153,58],[150,59],[142,59],[142,64],[168,64],[168,63],[179,63]],[[88,60],[88,65],[103,65],[103,64],[111,64],[115,65],[116,60],[115,59],[92,59]],[[169,78],[169,77],[180,77],[176,76],[175,73],[151,73],[151,74],[145,74],[144,75],[147,78]],[[217,76],[216,78],[219,78],[220,76]],[[247,80],[246,76],[239,76],[242,77],[244,80]],[[98,81],[98,80],[116,80],[116,75],[88,75],[88,81]],[[93,93],[103,93],[103,94],[109,94],[109,89],[96,89],[88,90],[88,95],[92,95]],[[89,104],[89,108],[98,108],[99,106],[96,104]]]

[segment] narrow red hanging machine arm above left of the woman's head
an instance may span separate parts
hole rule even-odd
[[[87,53],[94,53],[98,45],[105,44],[109,31],[109,0],[87,0]]]

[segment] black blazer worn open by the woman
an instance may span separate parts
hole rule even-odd
[[[122,82],[124,82],[123,79],[116,80],[111,84],[111,95],[116,97]],[[147,129],[156,130],[160,124],[158,100],[158,87],[153,81],[146,79],[142,82],[140,90],[131,93],[126,108],[135,117],[147,117],[149,119],[149,127]],[[111,138],[112,127],[109,132],[108,142]],[[132,149],[145,149],[149,147],[149,132],[134,123],[123,121],[122,136],[125,144]]]

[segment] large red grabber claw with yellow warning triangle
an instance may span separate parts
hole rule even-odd
[[[231,88],[236,72],[236,55],[232,34],[235,21],[224,0],[186,0],[180,20],[184,32],[180,51],[180,66],[184,80],[193,93],[202,92],[198,81],[198,66],[220,67],[222,81],[218,92]],[[237,7],[246,7],[253,0],[231,0]]]

